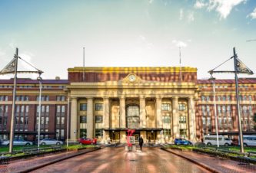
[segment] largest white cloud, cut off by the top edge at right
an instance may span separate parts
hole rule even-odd
[[[208,0],[208,2],[204,1],[196,1],[194,4],[194,8],[207,8],[208,11],[215,10],[220,15],[220,20],[222,18],[227,18],[230,14],[231,10],[236,6],[241,4],[242,2],[246,2],[247,0]]]

